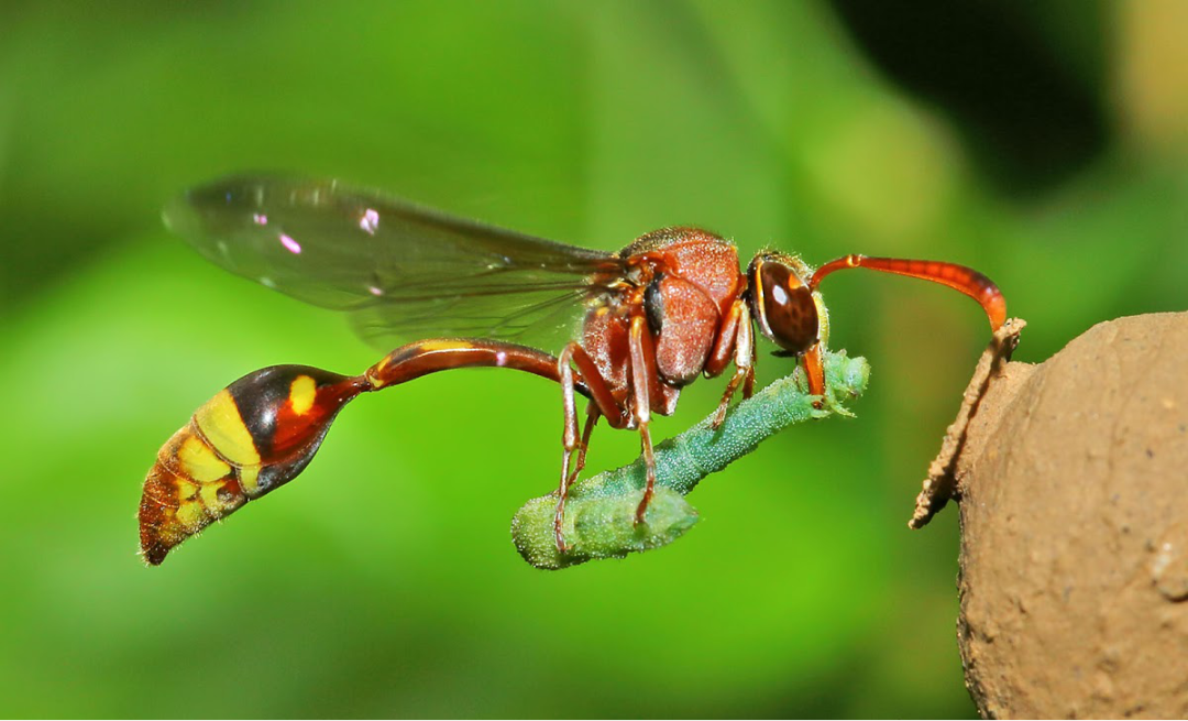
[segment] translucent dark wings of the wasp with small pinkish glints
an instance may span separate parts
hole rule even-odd
[[[337,181],[229,177],[175,200],[165,222],[216,265],[349,313],[384,350],[444,336],[557,350],[625,271],[612,253]]]

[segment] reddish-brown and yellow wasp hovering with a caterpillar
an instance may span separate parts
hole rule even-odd
[[[813,269],[777,250],[744,270],[733,243],[694,227],[646,233],[619,252],[482,225],[337,181],[236,176],[185,193],[166,225],[207,259],[301,301],[348,314],[396,350],[358,376],[277,365],[235,381],[159,451],[140,502],[150,564],[210,522],[296,477],[330,422],[364,393],[456,368],[508,368],[556,382],[563,408],[555,535],[599,420],[639,434],[656,484],[652,414],[676,410],[701,376],[733,371],[714,416],[754,384],[756,328],[824,394],[829,314],[821,281],[867,268],[941,283],[977,300],[993,330],[1006,302],[954,263],[849,255]],[[584,421],[577,396],[587,399]]]

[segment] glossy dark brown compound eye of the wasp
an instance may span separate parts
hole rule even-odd
[[[804,282],[807,268],[789,256],[763,255],[751,262],[751,314],[759,330],[784,351],[801,355],[819,340],[817,300]]]

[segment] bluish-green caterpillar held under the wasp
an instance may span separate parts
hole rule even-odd
[[[828,402],[813,407],[804,375],[794,372],[735,406],[719,430],[710,428],[713,414],[684,433],[656,446],[656,495],[645,523],[634,525],[636,506],[646,481],[644,460],[581,481],[565,502],[565,541],[573,548],[561,554],[554,540],[552,521],[557,496],[525,503],[512,519],[512,540],[524,560],[538,569],[557,570],[598,558],[623,558],[650,551],[681,538],[697,522],[697,510],[684,495],[702,478],[746,456],[765,439],[792,424],[849,415],[842,401],[858,397],[870,378],[866,358],[847,358],[845,351],[826,352],[824,375]]]

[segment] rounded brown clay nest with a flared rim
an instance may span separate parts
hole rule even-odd
[[[917,502],[961,513],[966,683],[986,719],[1188,719],[1188,313],[987,350]]]

